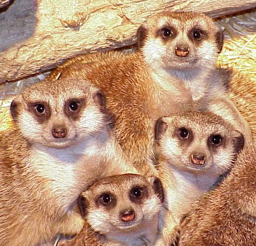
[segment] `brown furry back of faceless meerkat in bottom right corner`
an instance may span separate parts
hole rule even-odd
[[[193,206],[179,245],[256,245],[256,148],[244,147],[230,174]]]

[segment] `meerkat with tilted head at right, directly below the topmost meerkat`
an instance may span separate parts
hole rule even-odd
[[[163,241],[156,245],[169,245],[176,240],[176,227],[184,214],[229,171],[244,139],[221,117],[191,111],[158,119],[155,140],[168,210]]]

